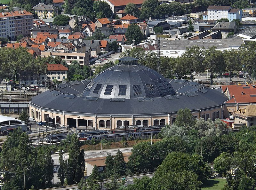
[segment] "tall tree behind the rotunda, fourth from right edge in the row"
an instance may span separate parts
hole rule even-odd
[[[181,58],[184,62],[184,70],[190,74],[190,80],[193,81],[193,72],[202,72],[202,50],[198,46],[187,48]]]

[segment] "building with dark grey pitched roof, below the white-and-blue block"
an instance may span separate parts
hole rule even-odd
[[[226,38],[229,32],[236,33],[236,22],[218,22],[212,27],[212,32],[220,31],[222,38]]]

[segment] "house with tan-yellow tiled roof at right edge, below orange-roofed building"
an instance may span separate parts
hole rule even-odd
[[[256,125],[256,105],[248,105],[244,108],[240,108],[236,112],[233,112],[235,116],[235,123],[233,126],[237,124],[244,124],[247,127]]]

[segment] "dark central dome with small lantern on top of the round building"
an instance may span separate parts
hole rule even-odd
[[[138,65],[138,59],[125,57],[92,79],[82,96],[103,99],[163,97],[175,95],[171,84],[155,70]]]

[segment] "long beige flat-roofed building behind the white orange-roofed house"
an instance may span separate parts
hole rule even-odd
[[[81,66],[84,66],[84,65],[89,66],[89,59],[90,59],[89,51],[85,53],[77,53],[77,52],[69,53],[69,52],[61,52],[53,48],[49,48],[41,52],[41,57],[48,57],[48,56],[51,56],[51,57],[59,56],[61,57],[62,60],[65,60],[68,65],[70,65],[72,61],[76,60],[79,62],[79,65]]]

